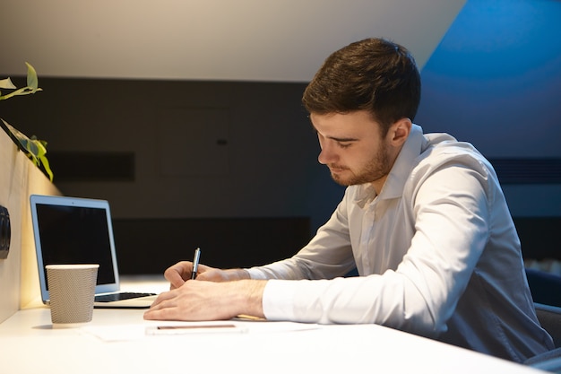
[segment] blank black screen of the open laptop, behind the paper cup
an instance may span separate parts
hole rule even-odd
[[[43,265],[99,264],[98,284],[115,283],[104,209],[37,204],[37,217]]]

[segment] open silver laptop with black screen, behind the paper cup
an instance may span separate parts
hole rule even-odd
[[[120,291],[108,201],[31,195],[30,205],[43,303],[49,300],[45,265],[99,264],[94,308],[151,306],[154,293]]]

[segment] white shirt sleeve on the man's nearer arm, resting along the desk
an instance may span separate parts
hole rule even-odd
[[[445,331],[488,240],[486,178],[458,165],[417,178],[422,180],[414,184],[410,199],[415,233],[396,270],[331,280],[270,281],[263,294],[265,316],[324,324],[377,323],[426,336]]]

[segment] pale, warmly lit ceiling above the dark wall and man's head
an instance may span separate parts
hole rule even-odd
[[[367,37],[419,66],[466,0],[1,0],[0,78],[307,82]]]

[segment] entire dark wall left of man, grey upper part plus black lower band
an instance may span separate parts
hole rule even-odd
[[[39,86],[3,101],[2,117],[47,140],[65,195],[109,201],[124,273],[160,273],[195,246],[222,267],[288,257],[341,198],[317,162],[303,83],[39,76]]]

